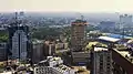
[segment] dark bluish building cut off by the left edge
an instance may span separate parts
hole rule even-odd
[[[7,43],[1,42],[0,43],[0,61],[7,60]]]

